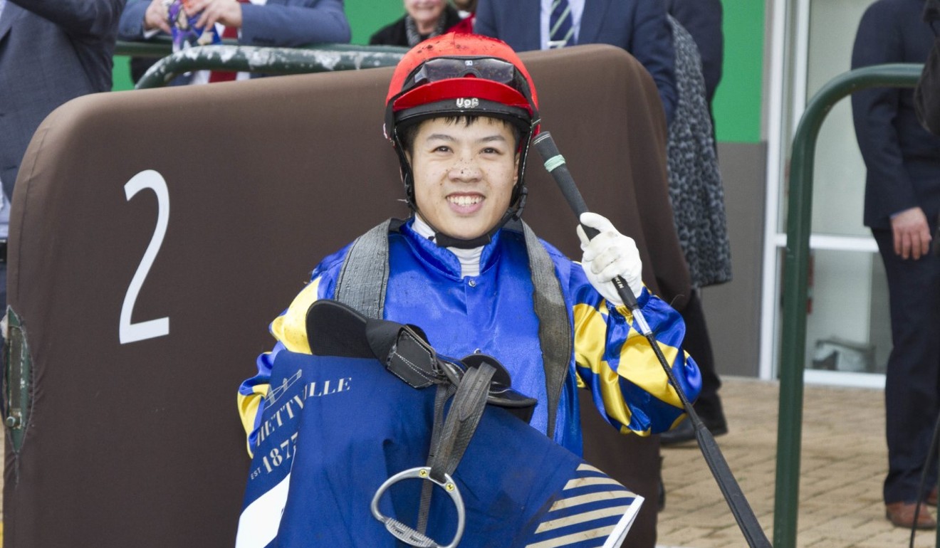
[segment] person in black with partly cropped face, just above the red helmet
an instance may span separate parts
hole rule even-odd
[[[446,0],[404,0],[404,7],[401,19],[380,28],[368,39],[369,45],[412,47],[461,22],[460,13]]]

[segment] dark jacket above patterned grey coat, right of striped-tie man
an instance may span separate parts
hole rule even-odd
[[[712,104],[714,90],[721,82],[725,37],[721,31],[721,0],[666,0],[666,10],[696,40],[705,77],[705,99]]]

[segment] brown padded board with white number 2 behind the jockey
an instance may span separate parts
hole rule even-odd
[[[609,46],[523,58],[588,207],[637,240],[650,286],[687,294],[649,75]],[[46,118],[10,223],[9,303],[33,376],[18,453],[7,436],[5,546],[233,544],[248,467],[235,394],[274,342],[268,323],[324,255],[407,214],[382,135],[390,76],[114,92]],[[132,320],[168,318],[169,333],[120,344],[158,217],[154,192],[128,199],[124,185],[148,169],[166,182],[168,223]],[[525,219],[580,257],[575,219],[535,151],[527,181]],[[591,432],[588,459],[650,501],[628,545],[651,547],[658,441]]]

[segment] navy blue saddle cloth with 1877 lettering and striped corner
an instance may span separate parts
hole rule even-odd
[[[387,478],[426,464],[434,392],[374,359],[279,352],[236,546],[403,546],[369,505]],[[466,507],[461,548],[613,545],[642,502],[493,406],[453,478]],[[415,526],[421,483],[392,486],[384,515]],[[446,545],[457,515],[450,497],[433,491],[427,534]]]

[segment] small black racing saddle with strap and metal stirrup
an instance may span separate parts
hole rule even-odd
[[[383,523],[389,533],[411,546],[457,546],[462,537],[466,512],[460,490],[451,475],[473,438],[485,405],[505,408],[527,423],[537,400],[513,390],[509,371],[493,356],[477,353],[458,360],[440,355],[419,327],[367,318],[339,301],[320,300],[310,305],[306,315],[306,333],[314,355],[376,358],[390,373],[415,389],[436,386],[427,465],[403,470],[385,480],[373,496],[370,509],[373,517]],[[407,478],[427,480],[422,486],[415,527],[384,516],[379,510],[379,501],[385,491]],[[457,530],[453,540],[447,544],[440,544],[425,535],[434,485],[442,488],[457,508]]]

